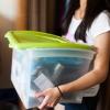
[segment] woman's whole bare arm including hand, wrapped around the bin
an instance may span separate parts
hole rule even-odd
[[[63,94],[90,88],[91,86],[102,82],[107,78],[110,57],[110,33],[107,32],[96,36],[95,46],[98,52],[92,70],[88,72],[79,79],[58,86]],[[54,107],[59,101],[61,92],[57,87],[54,87],[42,92],[36,92],[36,98],[37,97],[44,97],[43,102],[38,107],[40,109],[43,109],[47,106]]]

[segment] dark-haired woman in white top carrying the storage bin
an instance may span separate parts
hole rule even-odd
[[[76,92],[101,84],[107,78],[109,67],[110,18],[106,0],[70,0],[63,21],[63,36],[70,42],[95,45],[97,55],[90,72],[75,81],[36,92],[45,97],[40,109],[54,107],[66,92]],[[88,99],[86,99],[86,102]],[[84,105],[66,103],[66,110],[91,110]],[[95,109],[94,109],[95,110]]]

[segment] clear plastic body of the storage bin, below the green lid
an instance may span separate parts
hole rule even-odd
[[[36,99],[35,92],[81,77],[88,72],[92,55],[81,50],[13,50],[11,80],[24,106],[37,107],[43,99]],[[84,96],[96,94],[96,87],[66,94],[62,102],[81,102]]]

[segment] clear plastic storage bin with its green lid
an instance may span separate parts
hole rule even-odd
[[[69,43],[64,38],[35,31],[10,31],[6,34],[13,48],[11,80],[25,108],[37,107],[43,98],[35,92],[78,79],[89,70],[92,46]],[[95,96],[97,87],[66,94],[62,102],[81,102]]]

